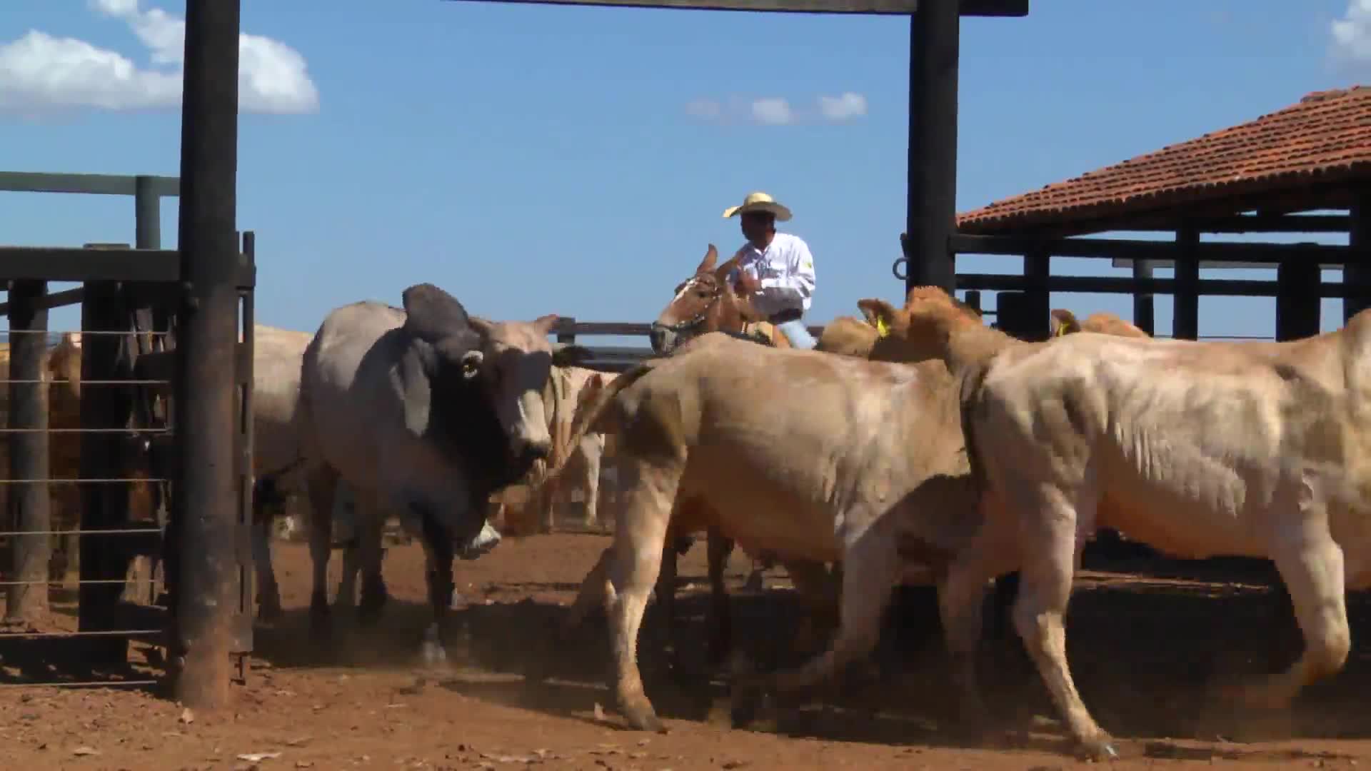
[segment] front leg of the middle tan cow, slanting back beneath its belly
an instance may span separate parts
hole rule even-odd
[[[851,520],[854,517],[849,517]],[[768,687],[779,697],[790,697],[831,682],[847,664],[869,654],[880,638],[880,619],[901,578],[897,539],[890,527],[894,517],[879,521],[864,532],[845,553],[842,600],[838,634],[832,645],[797,669],[769,678],[740,679],[733,691],[733,722],[751,722],[757,704]]]

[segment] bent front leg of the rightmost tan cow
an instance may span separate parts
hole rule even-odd
[[[1259,678],[1238,693],[1246,704],[1267,709],[1289,705],[1304,686],[1342,669],[1352,648],[1342,549],[1328,534],[1324,506],[1298,505],[1301,521],[1276,536],[1271,557],[1290,590],[1304,652],[1286,671]]]

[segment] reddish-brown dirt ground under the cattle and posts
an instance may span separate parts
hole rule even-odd
[[[687,643],[677,672],[651,649],[648,696],[670,733],[625,731],[611,709],[602,621],[554,643],[550,626],[607,543],[596,535],[506,541],[457,565],[469,608],[457,613],[451,665],[420,669],[425,626],[422,556],[393,546],[385,558],[392,601],[378,628],[339,613],[336,643],[310,646],[304,608],[308,557],[277,543],[287,617],[259,626],[245,686],[222,713],[189,713],[155,691],[0,685],[0,768],[953,768],[1086,767],[1061,753],[1057,723],[1021,654],[987,643],[983,687],[1004,722],[993,745],[958,744],[946,659],[935,630],[893,626],[873,663],[838,693],[775,709],[749,730],[728,727],[728,691],[702,674],[703,539],[681,560],[679,612]],[[333,582],[339,558],[333,558]],[[765,595],[742,590],[747,562],[729,571],[735,639],[755,661],[788,653],[798,623],[777,568]],[[1224,678],[1260,669],[1278,637],[1259,589],[1105,578],[1080,582],[1069,654],[1086,702],[1119,738],[1117,768],[1371,767],[1366,646],[1337,678],[1312,686],[1289,712],[1252,713],[1208,698]],[[1353,628],[1364,630],[1359,597]],[[647,624],[654,620],[651,610]],[[1366,635],[1360,635],[1366,639]],[[1017,642],[1015,641],[1015,645]],[[147,649],[136,648],[143,667]],[[1006,653],[1008,652],[1008,653]],[[521,672],[555,657],[555,676],[525,686]],[[694,674],[690,674],[694,672]],[[1100,764],[1093,764],[1100,766]]]

